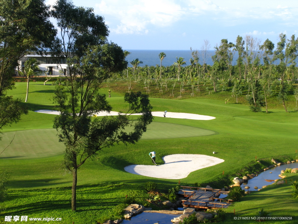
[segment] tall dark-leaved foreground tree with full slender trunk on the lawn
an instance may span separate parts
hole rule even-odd
[[[66,148],[64,163],[72,172],[72,210],[76,210],[77,169],[102,148],[119,142],[136,143],[153,119],[152,107],[148,95],[127,93],[124,99],[129,104],[128,115],[92,121],[93,114],[111,111],[105,95],[98,91],[111,72],[127,67],[125,53],[121,47],[107,41],[108,29],[93,9],[58,0],[52,14],[61,30],[61,39],[57,38],[52,54],[66,57],[69,70],[65,84],[55,88],[54,101],[61,115],[55,118],[54,128]],[[131,113],[142,115],[132,119]],[[128,125],[134,127],[130,133],[124,130]]]

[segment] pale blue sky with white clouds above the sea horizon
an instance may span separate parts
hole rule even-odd
[[[53,4],[55,0],[48,0]],[[221,39],[246,35],[278,42],[280,33],[298,36],[297,0],[74,0],[105,18],[109,40],[123,49],[210,50]]]

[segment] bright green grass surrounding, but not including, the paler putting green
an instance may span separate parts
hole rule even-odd
[[[17,87],[17,89],[13,90],[15,92],[12,91],[9,94],[12,95],[14,93],[17,96],[24,94],[24,90],[19,90],[19,87],[24,87]],[[34,87],[35,85],[32,85],[32,89]],[[36,85],[36,88],[39,89],[36,91],[47,92],[52,86]],[[105,92],[104,89],[103,92]],[[33,93],[30,95],[33,95]],[[31,99],[30,95],[29,99]],[[49,95],[38,95],[38,97],[32,98],[29,104],[30,108],[32,110],[49,109],[52,106],[48,100],[50,98]],[[126,105],[123,103],[121,96],[112,97],[109,101],[114,107],[113,110],[125,111]],[[39,105],[40,102],[43,104]],[[77,194],[78,198],[81,198],[86,197],[84,192],[96,191],[98,194],[94,195],[94,198],[101,199],[101,202],[94,205],[97,202],[90,200],[78,201],[80,211],[75,213],[75,215],[69,213],[70,191],[69,188],[64,187],[71,186],[71,176],[65,174],[61,166],[62,154],[36,159],[1,159],[1,169],[10,173],[9,188],[11,190],[9,191],[7,202],[4,203],[4,207],[7,208],[5,214],[15,213],[18,210],[13,205],[22,203],[24,204],[24,211],[28,211],[36,217],[41,214],[39,212],[42,212],[43,216],[49,216],[47,211],[54,212],[57,217],[59,215],[67,217],[67,220],[80,220],[80,217],[90,217],[90,214],[92,214],[92,218],[90,217],[88,221],[86,220],[86,223],[91,223],[94,217],[102,217],[106,214],[103,208],[111,208],[113,205],[120,203],[122,198],[119,197],[122,197],[123,191],[127,189],[127,186],[123,189],[121,188],[122,190],[119,189],[119,191],[116,188],[115,192],[113,191],[115,194],[112,199],[107,200],[108,196],[105,196],[104,187],[98,187],[99,184],[118,182],[129,184],[128,188],[139,188],[137,185],[148,180],[154,180],[159,184],[160,188],[169,188],[178,182],[177,180],[163,180],[133,175],[123,170],[123,167],[130,164],[150,165],[148,152],[152,151],[152,149],[157,151],[158,157],[156,162],[160,164],[162,163],[161,157],[168,154],[195,153],[213,156],[212,151],[218,152],[216,156],[224,159],[225,162],[192,172],[187,178],[181,180],[184,183],[203,183],[220,177],[223,170],[226,173],[240,168],[242,164],[254,160],[255,156],[262,158],[275,157],[280,154],[294,154],[297,148],[297,113],[285,113],[283,110],[272,109],[269,114],[252,113],[245,105],[224,104],[222,101],[210,99],[170,100],[151,98],[151,104],[154,111],[167,110],[215,116],[216,119],[210,121],[162,117],[155,117],[155,121],[203,128],[215,131],[217,134],[175,139],[148,139],[141,140],[136,145],[128,145],[126,147],[120,144],[103,150],[96,158],[89,160],[79,170],[78,185],[80,190]],[[30,112],[27,116],[23,116],[21,122],[5,128],[3,131],[51,128],[53,117],[54,115]],[[133,187],[134,185],[136,187]],[[46,200],[39,190],[34,190],[41,188],[47,188],[44,191],[54,195],[54,197],[57,194],[59,197],[57,200],[55,198],[51,199],[49,206],[44,206],[41,209],[42,211],[35,212],[32,211],[35,207],[32,203],[40,203]],[[57,193],[57,191],[62,193]],[[36,195],[33,197],[32,194]],[[131,194],[134,193],[131,192]],[[18,198],[15,195],[23,196]],[[86,198],[88,199],[88,197]],[[53,206],[52,203],[57,203],[57,205]],[[55,207],[55,209],[52,207]]]

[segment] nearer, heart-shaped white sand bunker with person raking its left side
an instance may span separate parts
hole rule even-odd
[[[200,154],[173,154],[162,159],[162,165],[129,165],[124,170],[146,177],[182,179],[193,171],[224,162],[223,159]]]

